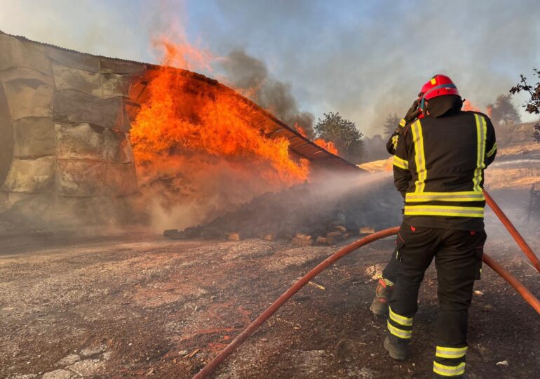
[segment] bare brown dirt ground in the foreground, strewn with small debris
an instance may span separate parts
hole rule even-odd
[[[527,238],[540,251],[537,232]],[[539,296],[538,274],[505,233],[492,232],[486,252]],[[374,273],[393,244],[392,238],[374,242],[320,274],[313,282],[324,289],[304,287],[214,377],[429,377],[433,267],[421,288],[407,361],[387,356],[384,319],[368,310]],[[0,246],[0,377],[46,379],[190,378],[338,247],[173,241],[141,232],[12,234]],[[475,290],[471,377],[537,378],[539,315],[487,267]]]

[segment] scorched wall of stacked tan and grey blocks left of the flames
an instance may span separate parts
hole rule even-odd
[[[0,210],[136,193],[125,103],[146,67],[1,32],[0,51]]]

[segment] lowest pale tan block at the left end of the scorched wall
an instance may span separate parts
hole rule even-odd
[[[2,189],[9,192],[45,192],[55,177],[55,157],[13,159]]]

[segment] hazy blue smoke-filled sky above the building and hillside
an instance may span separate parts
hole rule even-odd
[[[183,30],[216,58],[197,71],[222,79],[220,57],[244,51],[290,88],[300,111],[339,112],[374,135],[389,114],[403,117],[433,74],[450,76],[480,109],[520,74],[532,79],[539,14],[536,0],[0,0],[0,30],[151,63],[160,60],[152,41]]]

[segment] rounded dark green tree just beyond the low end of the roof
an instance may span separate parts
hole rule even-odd
[[[318,138],[334,142],[339,155],[353,163],[360,160],[363,153],[363,133],[358,131],[356,124],[344,119],[338,112],[325,113],[323,119],[318,119],[315,126]]]

